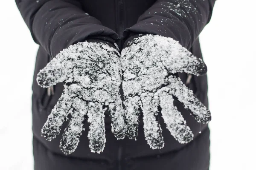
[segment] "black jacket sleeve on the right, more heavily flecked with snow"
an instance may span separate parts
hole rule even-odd
[[[189,49],[209,23],[214,3],[215,0],[157,0],[123,36],[158,34]]]

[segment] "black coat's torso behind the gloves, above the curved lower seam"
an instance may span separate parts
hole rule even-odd
[[[103,26],[113,29],[116,31],[121,37],[122,32],[125,28],[133,26],[137,23],[138,18],[141,14],[143,14],[148,8],[150,8],[155,0],[80,0],[83,6],[83,10],[88,13],[90,16],[93,16],[101,21]],[[202,57],[199,40],[197,39],[194,42],[194,45],[190,49],[192,53],[197,57]],[[54,86],[54,95],[49,93],[46,88],[40,88],[36,82],[36,75],[39,70],[44,68],[47,63],[50,61],[50,56],[44,51],[43,48],[39,48],[38,55],[35,63],[35,73],[33,79],[33,97],[32,97],[32,112],[33,112],[33,133],[35,137],[44,144],[50,151],[63,154],[59,149],[59,142],[61,139],[61,135],[59,135],[56,139],[52,140],[52,142],[46,141],[43,137],[41,137],[41,128],[47,120],[47,116],[51,112],[51,109],[54,107],[58,98],[61,96],[63,91],[63,84],[58,83]],[[187,86],[191,88],[198,99],[204,103],[204,105],[208,106],[207,99],[207,76],[201,77],[190,77],[187,74],[180,74],[180,78],[185,83],[186,81],[189,83]],[[51,95],[48,95],[51,94]],[[177,108],[183,114],[187,125],[191,128],[195,137],[199,135],[199,132],[204,130],[207,125],[199,124],[195,121],[195,119],[190,115],[189,111],[183,108],[183,105],[179,102],[175,101]],[[112,132],[111,132],[111,120],[108,114],[106,114],[105,118],[106,122],[106,138],[107,143],[103,153],[96,154],[91,153],[88,147],[88,123],[85,123],[84,128],[85,131],[82,132],[79,146],[76,151],[71,154],[72,157],[79,158],[96,158],[96,159],[107,159],[108,161],[112,161],[116,159],[118,156],[122,157],[138,157],[138,156],[148,156],[148,155],[156,155],[158,153],[170,152],[172,150],[178,150],[183,147],[184,144],[180,144],[171,136],[169,131],[166,129],[166,125],[163,120],[160,119],[161,126],[163,129],[163,137],[165,141],[165,147],[161,150],[152,150],[147,142],[144,139],[143,135],[143,124],[142,120],[140,121],[139,127],[139,136],[137,140],[130,140],[125,138],[124,140],[117,141]],[[62,130],[64,130],[64,124]]]

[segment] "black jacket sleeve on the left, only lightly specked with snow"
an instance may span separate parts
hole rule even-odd
[[[15,0],[36,43],[52,57],[88,37],[118,35],[83,11],[78,0]]]

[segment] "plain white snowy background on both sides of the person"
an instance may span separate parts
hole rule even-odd
[[[252,170],[256,153],[255,0],[217,0],[201,33],[212,112],[210,170]],[[0,1],[0,170],[32,170],[38,45],[14,0]]]

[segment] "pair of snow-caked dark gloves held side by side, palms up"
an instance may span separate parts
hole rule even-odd
[[[79,42],[61,51],[38,73],[41,87],[64,82],[63,94],[42,128],[42,136],[51,141],[70,114],[60,142],[64,154],[76,150],[86,115],[90,123],[90,150],[96,153],[104,150],[107,109],[117,139],[125,136],[136,139],[142,111],[145,139],[152,149],[164,146],[157,119],[159,112],[178,142],[188,143],[193,139],[192,131],[173,104],[174,97],[198,122],[210,121],[210,112],[177,77],[177,72],[205,74],[207,67],[202,59],[172,38],[159,35],[140,35],[128,40],[124,47],[120,54],[116,46],[103,41]],[[124,101],[120,88],[124,91]]]

